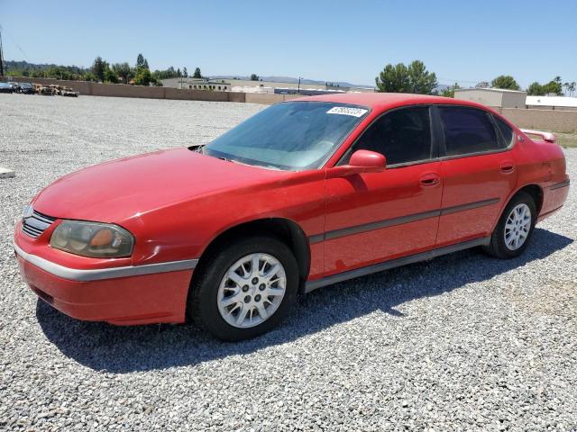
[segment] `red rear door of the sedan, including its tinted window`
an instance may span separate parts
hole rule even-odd
[[[436,244],[489,236],[517,184],[511,142],[490,112],[479,108],[438,105],[434,117],[443,130],[444,181]]]

